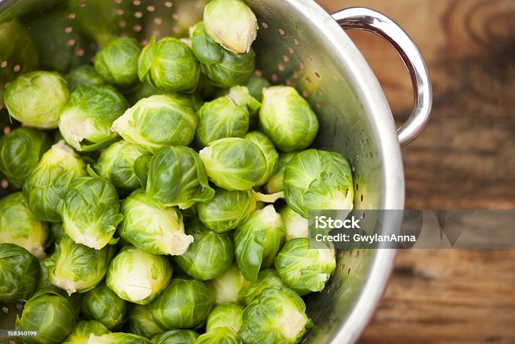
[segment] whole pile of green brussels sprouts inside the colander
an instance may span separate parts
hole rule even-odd
[[[306,100],[254,75],[250,8],[203,19],[8,85],[24,125],[0,139],[19,188],[0,200],[0,304],[25,302],[26,342],[297,343],[313,325],[301,297],[335,253],[307,210],[352,207],[349,163],[307,149]]]

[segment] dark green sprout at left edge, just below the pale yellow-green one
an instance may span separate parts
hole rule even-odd
[[[0,138],[0,173],[9,184],[23,187],[25,179],[38,165],[43,154],[52,146],[52,140],[40,130],[18,128]]]

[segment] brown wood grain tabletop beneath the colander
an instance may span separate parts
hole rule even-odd
[[[515,209],[515,1],[318,2],[386,14],[426,60],[433,111],[402,150],[406,208]],[[348,34],[400,125],[413,91],[399,56],[369,32]],[[515,343],[515,250],[400,251],[359,343]]]

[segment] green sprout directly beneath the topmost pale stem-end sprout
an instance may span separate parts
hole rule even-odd
[[[255,52],[236,54],[216,43],[206,32],[203,22],[195,25],[191,37],[193,53],[211,85],[229,88],[247,85],[254,72]]]

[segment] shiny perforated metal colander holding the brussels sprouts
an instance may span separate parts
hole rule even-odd
[[[0,100],[3,88],[35,69],[66,73],[91,62],[110,35],[146,44],[151,35],[187,36],[207,0],[0,0]],[[431,107],[431,85],[415,44],[380,13],[351,8],[333,17],[311,0],[245,0],[260,26],[254,42],[256,73],[296,87],[320,120],[315,146],[346,156],[354,173],[356,209],[402,209],[400,144],[415,139]],[[384,94],[344,28],[362,28],[389,41],[403,58],[415,89],[415,107],[396,134]],[[5,32],[16,30],[15,41]],[[4,41],[3,41],[4,40]],[[13,124],[0,102],[4,134]],[[1,182],[0,196],[9,186]],[[372,216],[366,221],[373,223]],[[363,223],[363,222],[362,222]],[[398,233],[400,223],[379,231]],[[337,267],[320,293],[306,298],[315,326],[303,342],[351,343],[362,332],[386,286],[394,250],[337,252]],[[0,305],[0,329],[12,328],[21,305]],[[6,341],[9,342],[9,341]]]

